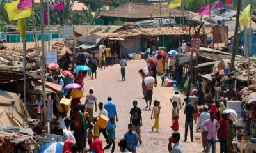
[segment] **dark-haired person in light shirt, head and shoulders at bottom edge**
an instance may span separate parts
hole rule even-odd
[[[169,138],[169,143],[168,143],[168,151],[170,153],[183,153],[183,147],[180,145],[180,133],[175,132],[172,133],[172,136]],[[172,143],[174,143],[174,146],[172,148]]]

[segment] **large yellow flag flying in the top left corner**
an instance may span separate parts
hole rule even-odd
[[[19,20],[20,18],[26,18],[32,15],[32,9],[26,8],[24,10],[18,10],[18,4],[20,1],[12,1],[4,5],[5,10],[8,13],[9,20]]]

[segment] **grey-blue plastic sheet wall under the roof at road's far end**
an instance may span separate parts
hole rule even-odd
[[[129,53],[140,53],[142,52],[141,36],[125,38],[125,41],[120,41],[121,56],[128,56]]]

